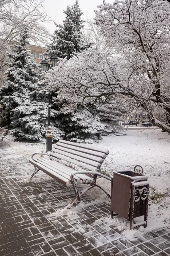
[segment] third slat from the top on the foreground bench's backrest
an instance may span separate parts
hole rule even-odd
[[[86,159],[83,157],[75,156],[73,154],[67,153],[67,156],[62,155],[62,151],[58,151],[56,149],[55,149],[55,152],[50,153],[50,155],[54,156],[60,160],[65,160],[68,163],[70,162],[70,163],[76,164],[77,166],[82,166],[85,169],[89,169],[89,168],[91,168],[91,166],[94,166],[94,167],[96,167],[96,169],[99,169],[101,166],[101,163],[97,163],[95,161],[92,161],[92,160],[89,160],[89,159]]]

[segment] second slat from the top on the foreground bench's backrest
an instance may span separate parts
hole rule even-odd
[[[94,155],[90,155],[90,154],[85,154],[85,153],[82,153],[82,152],[79,152],[79,151],[76,151],[76,150],[73,150],[73,149],[70,149],[70,148],[63,148],[63,147],[56,147],[56,148],[53,148],[53,151],[54,152],[57,152],[59,154],[62,154],[62,155],[65,155],[65,156],[68,156],[68,153],[71,154],[71,158],[74,158],[74,159],[77,159],[77,156],[78,157],[83,157],[85,159],[89,159],[89,160],[92,160],[94,162],[97,162],[97,163],[103,163],[104,159],[101,158],[101,157],[96,157]]]

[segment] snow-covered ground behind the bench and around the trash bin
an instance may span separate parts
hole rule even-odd
[[[102,164],[102,172],[109,175],[113,171],[132,170],[136,164],[144,168],[144,174],[149,174],[150,192],[148,207],[148,227],[147,230],[155,227],[170,227],[170,135],[161,132],[161,129],[127,130],[126,136],[104,137],[96,143],[98,147],[107,148],[110,154]],[[12,139],[11,136],[8,138]],[[44,142],[45,143],[45,142]],[[8,150],[14,154],[20,154],[27,159],[35,152],[45,151],[45,144],[42,143],[19,143],[11,141],[11,148]],[[99,183],[105,185],[110,191],[111,186],[108,180],[99,179]],[[97,189],[97,188],[95,188]],[[105,201],[105,195],[97,189],[93,193],[96,203]],[[84,207],[83,202],[79,207]],[[76,214],[79,209],[71,209],[67,214]],[[143,227],[138,231],[132,230],[129,233],[129,224],[121,217],[110,218],[119,226],[120,230],[125,230],[125,235],[132,235],[136,232],[143,232]],[[136,235],[136,234],[135,234]]]

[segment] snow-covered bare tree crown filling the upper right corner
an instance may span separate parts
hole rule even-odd
[[[135,97],[153,122],[170,132],[170,4],[122,0],[113,4],[104,1],[98,7],[96,24],[121,56],[119,77],[129,92],[134,92],[134,96],[131,92],[128,95]]]

